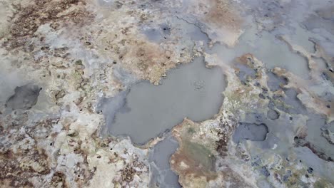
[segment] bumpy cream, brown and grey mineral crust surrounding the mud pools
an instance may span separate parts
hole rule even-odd
[[[163,138],[136,147],[128,137],[101,137],[105,123],[96,106],[138,80],[158,85],[168,70],[195,56],[204,56],[208,67],[221,66],[228,86],[212,120],[185,119],[171,130],[180,145],[171,167],[183,187],[333,187],[333,131],[317,129],[324,142],[308,131],[311,119],[330,127],[334,118],[334,58],[323,41],[309,38],[310,52],[288,35],[276,36],[305,58],[305,80],[284,68],[265,68],[251,53],[223,62],[183,29],[196,28],[209,46],[232,48],[248,21],[244,14],[253,16],[256,34],[273,31],[288,24],[281,13],[294,2],[264,2],[268,10],[228,0],[188,3],[1,1],[0,80],[6,81],[0,82],[0,187],[150,187],[148,151]],[[159,41],[145,34],[148,26],[162,29]],[[253,74],[242,77],[241,67]],[[270,89],[270,75],[283,80],[277,90]],[[15,88],[31,84],[41,87],[38,102],[7,108]],[[329,88],[328,95],[315,85]],[[292,102],[288,90],[295,93]],[[265,117],[269,110],[278,113],[275,120]],[[243,122],[265,123],[265,140],[234,142]]]

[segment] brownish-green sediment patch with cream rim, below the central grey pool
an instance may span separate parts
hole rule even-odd
[[[219,118],[218,118],[219,120]],[[196,123],[185,119],[180,125],[173,128],[173,135],[180,147],[171,156],[171,167],[179,175],[179,182],[185,187],[208,187],[209,182],[215,182],[221,187],[233,184],[236,187],[251,187],[238,173],[234,172],[228,164],[222,162],[228,155],[228,141],[233,134],[233,127],[220,119],[218,130],[211,130],[208,136],[201,134],[204,123]],[[203,141],[213,139],[216,141]],[[206,144],[214,143],[213,147]],[[218,161],[219,158],[219,161]],[[223,171],[217,170],[223,167]]]

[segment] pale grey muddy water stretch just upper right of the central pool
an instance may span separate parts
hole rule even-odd
[[[253,27],[246,30],[234,48],[216,44],[210,53],[217,53],[222,63],[231,63],[238,56],[252,53],[267,68],[285,68],[300,78],[308,78],[308,63],[305,58],[291,52],[286,43],[271,33],[263,32],[258,35]]]

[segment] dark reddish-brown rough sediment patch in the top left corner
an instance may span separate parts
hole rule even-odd
[[[26,40],[33,36],[39,26],[51,23],[54,29],[66,24],[83,24],[91,19],[85,9],[85,1],[81,0],[36,0],[29,5],[16,7],[16,15],[12,19],[7,48],[24,46]],[[76,9],[72,9],[73,7]]]

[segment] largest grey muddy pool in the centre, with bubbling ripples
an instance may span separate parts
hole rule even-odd
[[[221,69],[206,68],[203,58],[196,58],[168,72],[161,85],[145,81],[133,85],[115,114],[106,108],[114,101],[105,101],[103,114],[108,132],[129,135],[134,143],[141,145],[171,129],[184,117],[197,122],[207,120],[218,113],[225,87]]]

